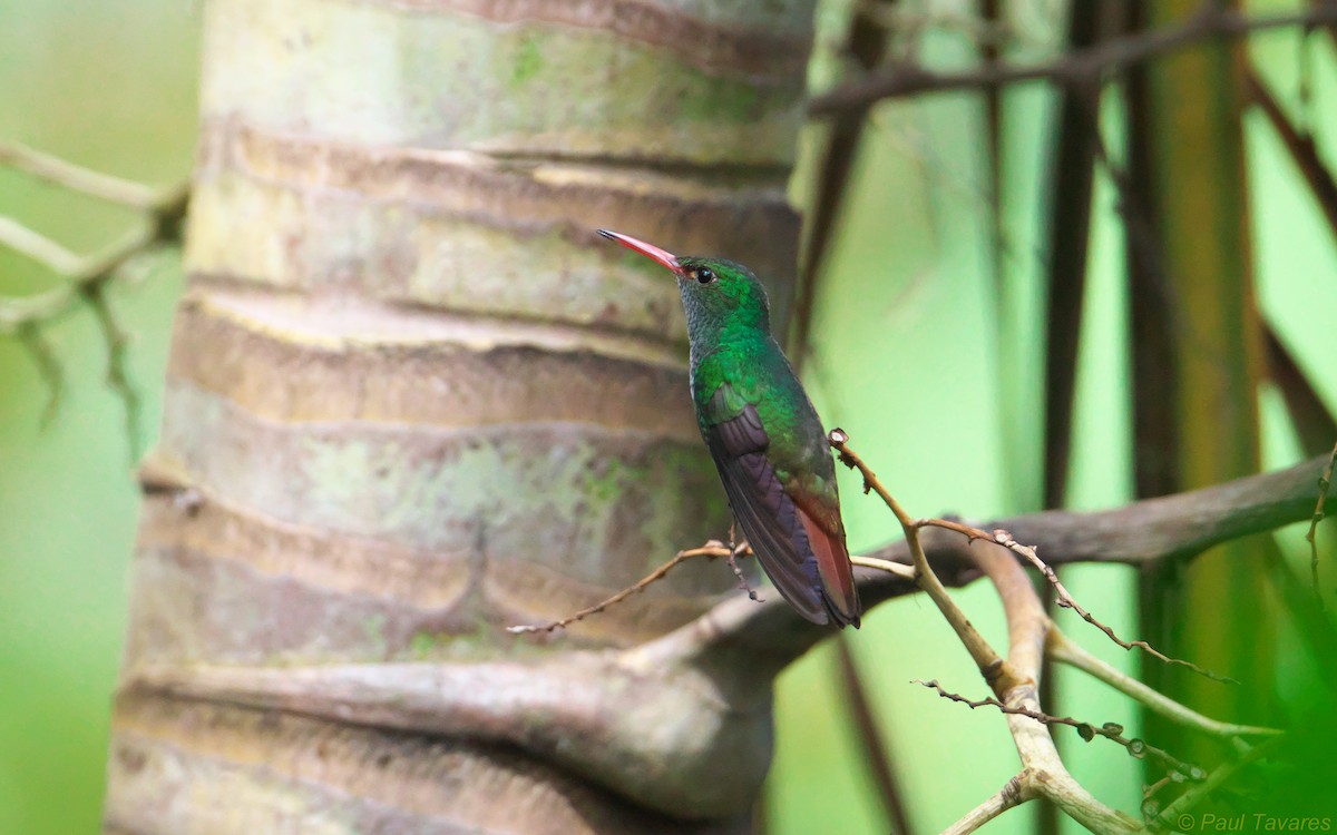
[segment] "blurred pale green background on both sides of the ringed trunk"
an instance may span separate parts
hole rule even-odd
[[[840,27],[846,7],[824,5],[824,32]],[[1027,21],[1038,49],[1059,43],[1059,21],[1043,15]],[[0,4],[0,140],[146,183],[178,182],[191,166],[198,49],[198,8],[182,0],[8,0]],[[928,49],[925,60],[969,56],[964,39],[940,37]],[[1255,39],[1251,49],[1274,88],[1293,99],[1294,35]],[[1326,40],[1316,59],[1317,100],[1332,102]],[[829,63],[814,68],[817,84],[830,76]],[[981,104],[969,95],[935,96],[874,111],[816,310],[806,365],[814,399],[916,514],[984,518],[1035,509],[1040,501],[1038,240],[1054,98],[1029,86],[1009,92],[1004,104],[1003,281],[995,281],[991,267]],[[1313,112],[1324,118],[1316,128],[1332,159],[1332,108]],[[1104,116],[1120,119],[1112,108]],[[1247,131],[1261,306],[1329,410],[1337,410],[1333,239],[1257,115]],[[817,138],[814,131],[806,136],[805,166]],[[809,179],[805,172],[796,178],[800,202]],[[1108,182],[1098,178],[1100,220],[1090,254],[1091,315],[1080,350],[1068,494],[1079,508],[1131,496],[1123,242],[1114,203]],[[130,212],[4,168],[0,215],[20,218],[78,251],[107,244],[134,222]],[[0,294],[36,293],[53,281],[0,248]],[[168,253],[140,261],[111,294],[112,309],[132,331],[130,370],[144,401],[135,430],[140,448],[156,433],[171,306],[180,286]],[[64,369],[62,402],[47,426],[47,381],[17,341],[0,337],[0,835],[99,830],[136,524],[124,403],[104,383],[107,358],[94,318],[75,310],[43,334]],[[1277,401],[1263,393],[1269,466],[1301,457]],[[852,548],[890,540],[894,525],[885,510],[860,500],[853,481],[842,488]],[[1301,534],[1278,534],[1297,565],[1306,558]],[[1066,580],[1116,631],[1136,633],[1127,569],[1072,569]],[[979,584],[960,599],[1001,644],[1001,612],[991,591]],[[912,822],[921,831],[940,830],[1016,771],[1011,739],[996,715],[910,684],[939,679],[949,689],[984,695],[969,659],[929,604],[900,600],[865,624],[853,652]],[[1080,625],[1070,624],[1070,635],[1136,672],[1134,657]],[[767,787],[773,832],[888,830],[852,740],[852,719],[836,697],[840,687],[830,644],[781,679],[778,754]],[[1060,693],[1055,712],[1119,721],[1136,733],[1136,712],[1126,700],[1062,673]],[[1079,779],[1103,800],[1135,812],[1142,775],[1134,760],[1063,729],[1058,737]],[[992,831],[1027,831],[1032,815],[1029,808],[1013,811]]]

